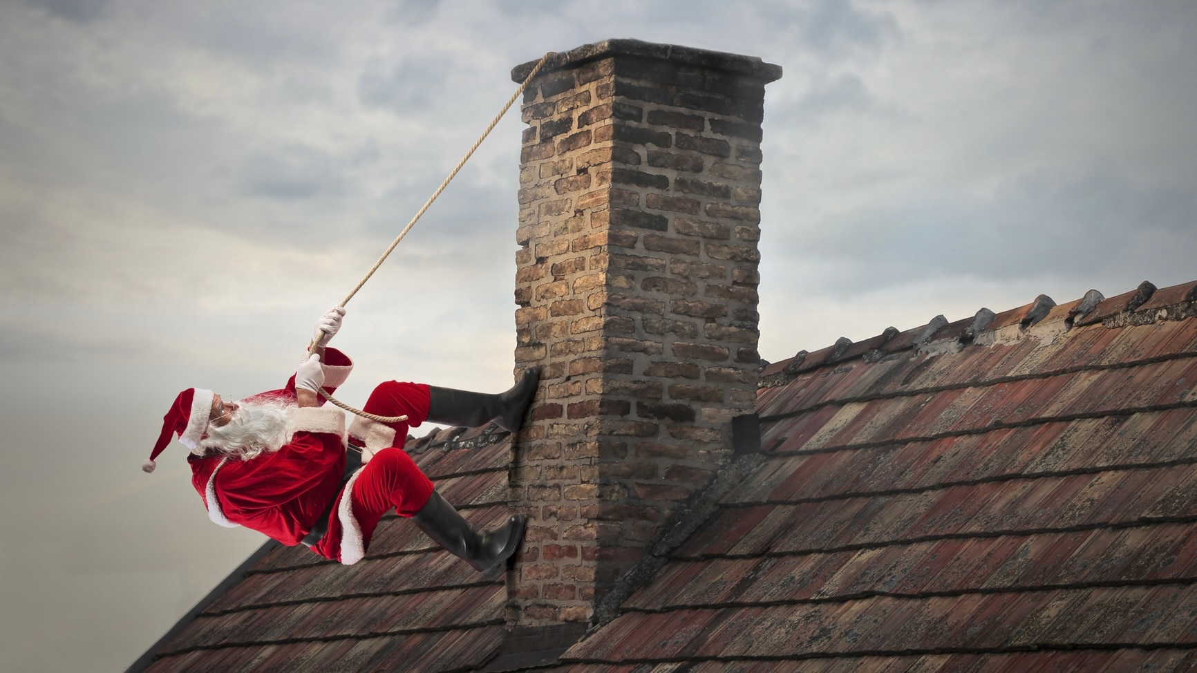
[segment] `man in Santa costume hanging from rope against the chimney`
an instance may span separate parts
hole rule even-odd
[[[365,556],[383,514],[394,509],[476,570],[497,569],[516,552],[524,516],[512,515],[494,530],[474,530],[403,451],[403,442],[408,429],[425,420],[467,428],[494,420],[515,432],[536,393],[536,370],[493,395],[387,381],[363,410],[407,418],[354,417],[346,431],[345,413],[323,406],[317,394],[321,388],[332,394],[353,369],[345,353],[327,347],[344,315],[336,308],[321,317],[315,352],[278,390],[239,401],[201,388],[180,393],[142,469],[152,472],[154,459],[178,435],[190,449],[192,484],[208,517],[221,526],[253,528],[352,564]]]

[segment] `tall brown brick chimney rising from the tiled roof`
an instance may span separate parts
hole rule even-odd
[[[760,125],[780,73],[610,40],[524,95],[516,366],[541,389],[510,475],[529,516],[516,627],[590,620],[754,410]]]

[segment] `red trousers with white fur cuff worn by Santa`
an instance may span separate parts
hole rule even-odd
[[[429,417],[429,387],[424,383],[387,381],[373,389],[361,408],[377,416],[407,416],[407,420],[387,424],[395,430],[391,448],[378,451],[361,467],[350,493],[353,519],[361,527],[361,536],[369,548],[382,515],[394,508],[400,516],[413,516],[432,497],[432,481],[402,449],[408,428],[418,428]],[[344,489],[338,499],[341,497]],[[328,520],[328,533],[311,551],[324,558],[340,560],[340,546],[341,521],[338,508],[334,507]]]

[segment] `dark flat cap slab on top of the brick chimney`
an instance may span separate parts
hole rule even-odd
[[[710,51],[693,47],[657,44],[655,42],[626,38],[603,40],[602,42],[583,44],[569,51],[559,51],[549,63],[546,63],[542,72],[561,69],[567,66],[579,66],[607,56],[638,56],[642,59],[656,59],[716,71],[727,71],[759,79],[761,84],[768,84],[782,78],[782,66],[766,63],[755,56],[742,56],[727,51]],[[523,81],[528,77],[528,73],[531,72],[531,68],[539,62],[540,59],[535,59],[511,68],[511,79]]]

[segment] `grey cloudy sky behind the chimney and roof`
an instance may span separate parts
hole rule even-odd
[[[1197,279],[1187,0],[0,4],[0,650],[120,671],[262,541],[213,526],[187,387],[280,384],[548,50],[760,56],[761,354]],[[511,381],[512,113],[351,302],[384,378]]]

